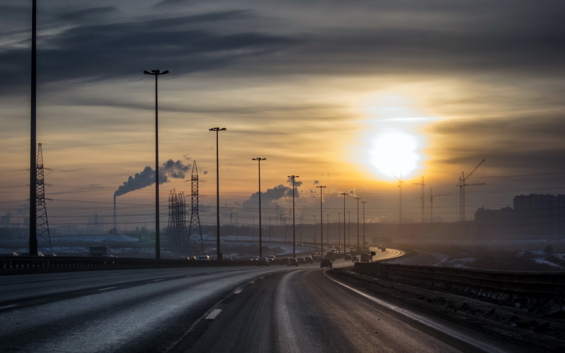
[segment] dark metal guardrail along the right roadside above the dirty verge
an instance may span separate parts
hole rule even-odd
[[[565,272],[356,263],[354,272],[407,285],[477,298],[514,307],[539,309],[565,305]]]

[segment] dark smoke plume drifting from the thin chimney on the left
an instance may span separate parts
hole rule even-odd
[[[188,172],[188,165],[182,164],[180,160],[173,162],[172,159],[167,160],[159,168],[159,184],[169,181],[169,178],[184,178]],[[139,190],[155,183],[155,169],[145,167],[141,173],[135,176],[129,176],[128,181],[124,181],[124,185],[120,185],[115,191],[114,196],[120,196],[129,193],[129,191]]]

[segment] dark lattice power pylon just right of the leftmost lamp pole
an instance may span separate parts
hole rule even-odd
[[[45,207],[45,182],[43,171],[43,151],[41,149],[41,143],[38,143],[36,182],[37,249],[41,252],[53,254],[53,247],[51,247],[51,236],[49,234],[49,222],[47,222],[47,208]]]

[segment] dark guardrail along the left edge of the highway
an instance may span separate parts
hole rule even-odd
[[[2,256],[0,274],[92,271],[102,269],[249,266],[250,260],[169,260],[133,258],[83,258],[75,256]]]

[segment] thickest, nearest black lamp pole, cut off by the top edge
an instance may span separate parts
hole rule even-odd
[[[31,136],[29,143],[29,255],[37,256],[37,0],[32,1]]]

